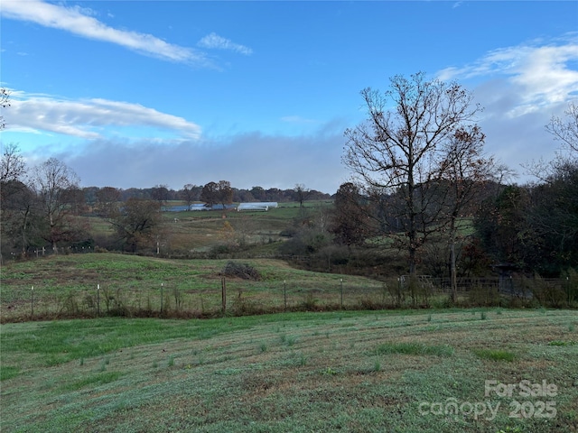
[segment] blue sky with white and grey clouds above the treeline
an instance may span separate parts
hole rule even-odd
[[[2,144],[81,187],[332,194],[361,90],[416,72],[471,92],[486,152],[522,182],[578,102],[575,1],[2,0],[0,25]]]

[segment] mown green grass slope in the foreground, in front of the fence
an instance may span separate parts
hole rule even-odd
[[[0,338],[3,432],[578,431],[576,311],[97,318]]]

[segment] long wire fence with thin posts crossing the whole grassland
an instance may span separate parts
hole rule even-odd
[[[457,298],[448,279],[421,276],[388,281],[351,282],[340,278],[323,287],[307,281],[242,281],[214,279],[203,286],[123,284],[103,281],[33,286],[2,290],[2,322],[103,316],[209,318],[297,310],[443,308],[451,306],[576,307],[576,279],[461,279]]]

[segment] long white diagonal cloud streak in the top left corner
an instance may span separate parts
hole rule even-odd
[[[151,34],[115,29],[98,21],[92,16],[93,14],[87,8],[66,7],[39,0],[4,0],[2,2],[2,16],[4,18],[61,29],[96,41],[116,43],[128,50],[162,60],[210,66],[210,61],[200,51],[173,45]]]

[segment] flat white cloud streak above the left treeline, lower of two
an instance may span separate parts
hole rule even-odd
[[[6,113],[7,132],[44,132],[96,140],[115,134],[115,127],[149,131],[155,128],[177,140],[200,138],[199,125],[138,104],[98,98],[69,100],[19,91],[12,91],[11,98],[12,105]]]

